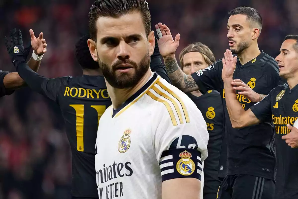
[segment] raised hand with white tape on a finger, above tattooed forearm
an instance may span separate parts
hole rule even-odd
[[[171,35],[170,29],[167,27],[167,25],[158,23],[155,25],[155,28],[159,36],[157,44],[162,57],[166,58],[167,56],[174,55],[174,53],[177,50],[177,47],[179,46],[180,34],[177,34],[174,40],[173,36]]]

